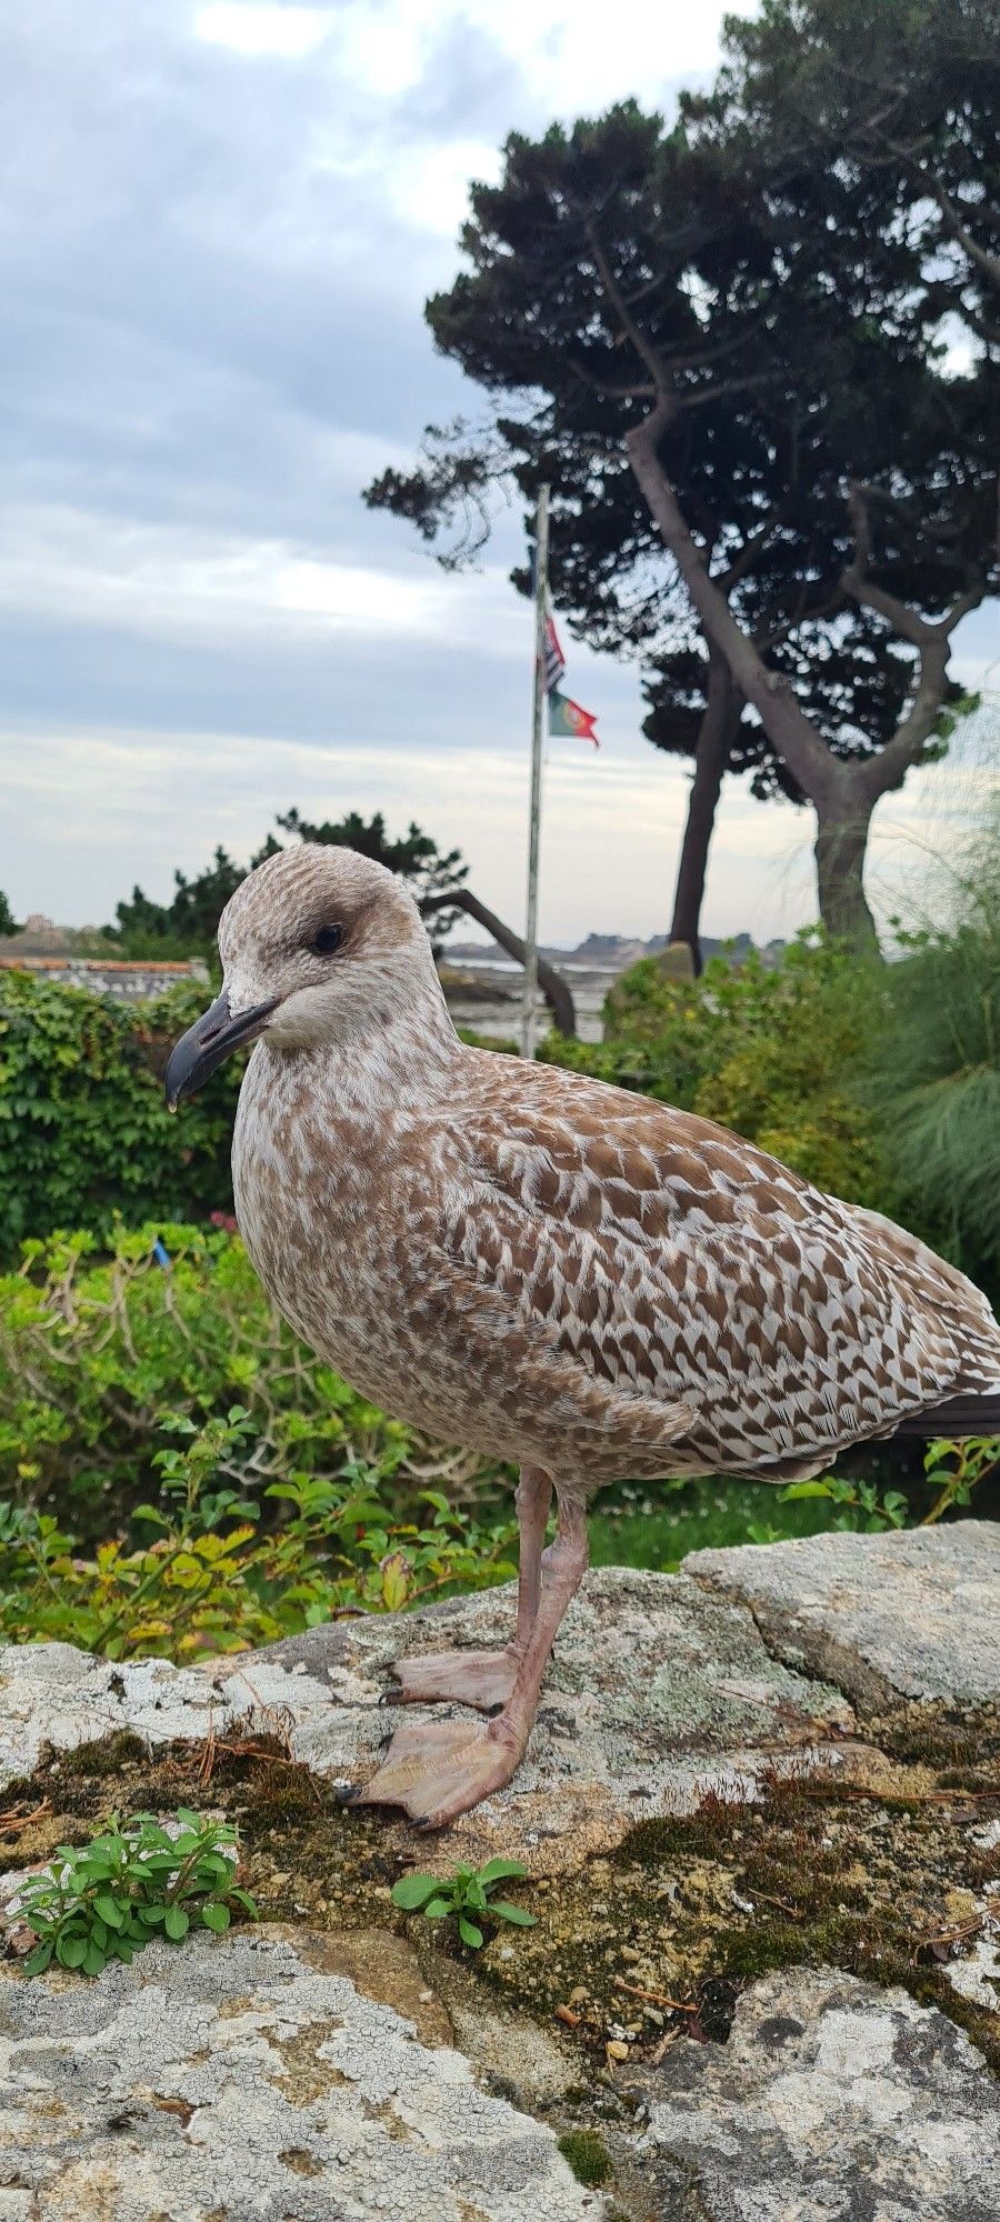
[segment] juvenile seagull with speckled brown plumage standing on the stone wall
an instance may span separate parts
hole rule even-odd
[[[284,849],[218,944],[167,1100],[256,1042],[233,1184],[264,1289],[362,1395],[520,1467],[513,1640],[393,1669],[393,1702],[491,1718],[400,1729],[360,1802],[438,1829],[511,1780],[604,1482],[784,1482],[907,1420],[1000,1429],[1000,1327],[962,1273],[722,1127],[467,1049],[380,864]]]

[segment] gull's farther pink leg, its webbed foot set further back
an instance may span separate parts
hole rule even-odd
[[[520,1527],[518,1627],[502,1651],[427,1651],[393,1662],[398,1686],[382,1704],[476,1704],[493,1713],[513,1691],[529,1647],[542,1593],[542,1544],[551,1504],[551,1480],[540,1467],[522,1467],[513,1500]]]

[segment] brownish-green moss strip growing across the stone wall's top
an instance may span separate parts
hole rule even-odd
[[[471,1978],[547,2031],[569,2004],[560,2042],[580,2046],[582,2082],[593,2089],[598,2073],[618,2102],[629,2062],[609,2069],[609,2035],[624,2035],[636,2064],[684,2031],[724,2040],[740,1991],[796,1964],[902,1984],[1000,2064],[998,2018],[956,1995],[933,1944],[953,1924],[956,1891],[978,1900],[1000,1864],[973,1840],[973,1824],[1000,1804],[1000,1709],[900,1706],[867,1720],[862,1735],[893,1762],[873,1786],[844,1771],[773,1778],[758,1806],[711,1795],[693,1815],[638,1822],[613,1853],[553,1889],[540,1884],[538,1926],[498,1926],[471,1958]],[[280,1738],[233,1735],[209,1771],[204,1744],[151,1755],[116,1733],[49,1753],[18,1791],[27,1811],[47,1800],[51,1818],[4,1844],[11,1866],[78,1842],[113,1809],[222,1809],[240,1826],[264,1920],[396,1926],[427,1966],[458,1953],[453,1924],[407,1926],[393,1911],[404,1860],[387,1846],[382,1818],[342,1811]]]

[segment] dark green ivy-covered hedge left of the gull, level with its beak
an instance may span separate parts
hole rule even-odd
[[[138,1227],[231,1211],[242,1060],[213,1073],[182,1120],[162,1098],[171,1044],[202,1009],[200,987],[122,1007],[0,973],[0,1255],[58,1227],[104,1235],[116,1215]]]

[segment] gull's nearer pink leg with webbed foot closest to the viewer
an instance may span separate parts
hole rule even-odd
[[[551,1647],[584,1571],[584,1509],[573,1498],[560,1500],[536,1622],[502,1713],[478,1729],[467,1720],[398,1729],[378,1773],[362,1791],[349,1791],[344,1802],[398,1804],[420,1829],[444,1829],[504,1789],[524,1758]]]

